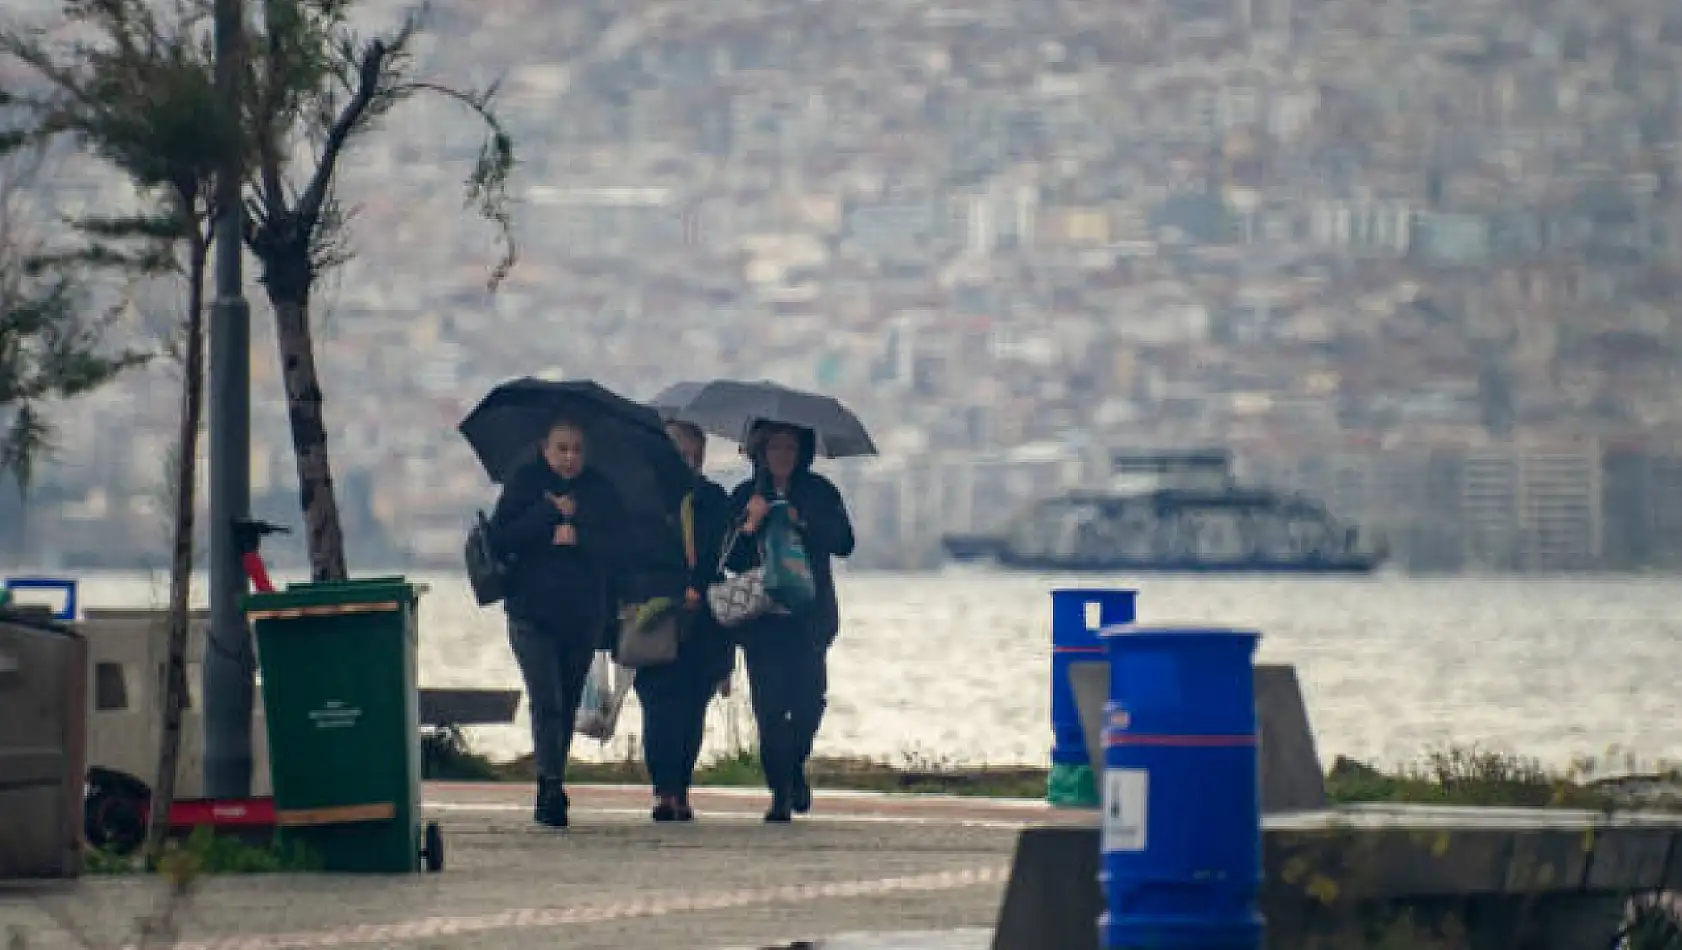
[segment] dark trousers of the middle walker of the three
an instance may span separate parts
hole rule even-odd
[[[637,669],[632,686],[643,703],[643,762],[654,794],[686,795],[701,758],[706,703],[718,678],[680,652],[673,662]]]

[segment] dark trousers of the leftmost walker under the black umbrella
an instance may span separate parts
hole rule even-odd
[[[540,778],[567,777],[572,731],[584,696],[584,679],[595,659],[600,624],[535,624],[508,620],[520,676],[532,708],[532,758]]]

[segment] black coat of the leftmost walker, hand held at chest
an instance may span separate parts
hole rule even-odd
[[[550,494],[570,494],[577,513],[562,518]],[[577,545],[555,545],[555,528],[563,521],[577,531]],[[619,493],[590,469],[563,479],[538,459],[515,472],[489,525],[491,545],[510,560],[508,615],[599,632],[609,617],[609,582],[624,562],[624,521]]]

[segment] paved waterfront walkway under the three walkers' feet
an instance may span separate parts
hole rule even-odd
[[[809,819],[765,826],[762,794],[720,789],[696,792],[696,824],[654,826],[643,789],[579,787],[574,800],[574,827],[548,831],[523,785],[427,785],[442,874],[219,876],[185,906],[175,947],[705,950],[984,928],[1014,831],[1092,821],[1038,802],[819,792]],[[141,878],[0,893],[0,933],[17,928],[30,950],[116,948],[156,905]]]

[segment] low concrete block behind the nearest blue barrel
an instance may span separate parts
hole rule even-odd
[[[1682,815],[1384,805],[1263,826],[1270,950],[1611,947],[1633,896],[1682,889]],[[992,950],[1097,950],[1098,837],[1097,815],[1021,832]]]

